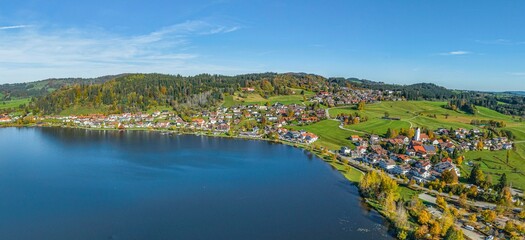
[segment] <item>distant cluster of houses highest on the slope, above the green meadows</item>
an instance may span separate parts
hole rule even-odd
[[[349,89],[342,87],[342,91],[331,93],[321,91],[310,99],[312,102],[319,102],[326,106],[343,106],[358,104],[359,102],[374,103],[379,101],[401,101],[401,97],[396,97],[393,91],[380,91],[370,89]]]

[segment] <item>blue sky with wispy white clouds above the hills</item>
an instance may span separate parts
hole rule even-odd
[[[308,72],[525,90],[524,1],[0,0],[0,83]]]

